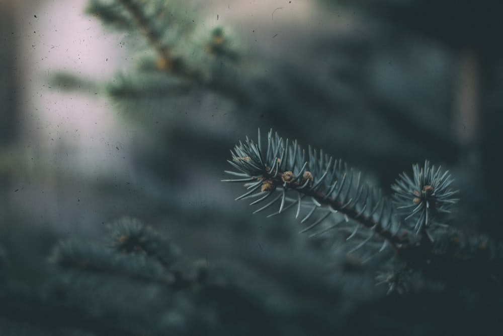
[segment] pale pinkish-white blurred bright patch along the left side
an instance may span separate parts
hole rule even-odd
[[[124,174],[127,165],[121,159],[131,137],[127,129],[117,130],[113,106],[99,87],[60,92],[51,86],[51,76],[59,71],[99,82],[123,63],[123,36],[104,34],[100,22],[85,15],[86,3],[2,4],[10,11],[2,43],[11,52],[11,92],[17,85],[7,104],[16,120],[16,139],[3,151],[9,180],[5,199],[10,211],[35,229],[58,233],[86,233],[93,230],[90,222],[102,220],[91,211],[91,185]],[[7,126],[0,127],[4,133]]]

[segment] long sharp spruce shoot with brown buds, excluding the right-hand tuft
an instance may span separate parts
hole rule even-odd
[[[283,140],[272,130],[267,140],[267,149],[264,151],[259,130],[257,143],[246,138],[244,143],[235,146],[231,151],[232,160],[228,162],[237,171],[226,172],[236,178],[224,180],[245,182],[247,191],[236,199],[258,198],[251,205],[262,203],[276,194],[275,190],[281,190],[255,213],[279,203],[279,210],[272,215],[296,207],[296,217],[299,217],[301,209],[307,206],[309,210],[301,223],[310,219],[317,210],[322,210],[323,214],[301,232],[315,228],[330,214],[342,214],[342,219],[339,218],[336,224],[322,232],[343,222],[353,222],[355,226],[350,237],[362,226],[370,229],[363,243],[376,235],[385,239],[382,248],[387,243],[394,246],[409,243],[407,237],[397,234],[400,222],[393,214],[391,201],[380,190],[364,182],[361,173],[321,150],[308,147],[306,151],[296,141],[290,143],[288,139]],[[289,190],[296,191],[296,197],[289,197]]]

